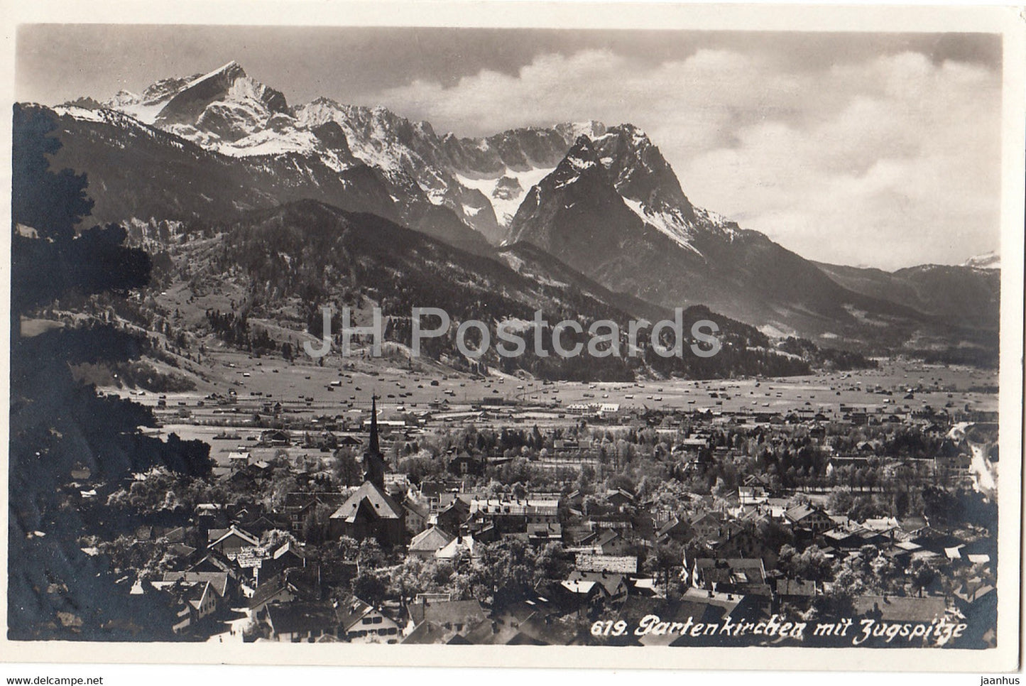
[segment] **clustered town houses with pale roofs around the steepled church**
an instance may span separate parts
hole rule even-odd
[[[218,634],[225,618],[234,616],[230,631],[242,631],[244,624],[246,637],[255,640],[594,643],[588,631],[594,621],[636,624],[647,614],[679,621],[701,617],[705,623],[807,615],[818,598],[834,591],[834,581],[781,564],[778,538],[783,535],[795,550],[815,547],[831,563],[865,556],[868,549],[882,561],[874,564],[885,562],[898,570],[919,561],[971,572],[951,588],[938,575],[915,590],[857,594],[854,617],[899,623],[983,618],[978,623],[985,627],[996,604],[996,546],[986,535],[939,530],[917,517],[855,521],[758,475],[746,476],[733,498],[696,498],[684,508],[669,508],[625,488],[497,494],[464,488],[460,477],[479,472],[486,458],[461,451],[449,456],[449,477],[415,486],[388,473],[377,412],[368,429],[359,486],[318,488],[314,480],[309,490],[289,492],[280,508],[272,509],[204,502],[190,526],[143,532],[168,543],[164,562],[170,569],[136,580],[130,593],[170,607],[170,629],[190,637]],[[709,445],[709,435],[699,432],[679,440],[675,453],[695,463],[708,454]],[[232,459],[245,462],[233,474],[255,478],[273,469],[244,455],[233,453]],[[310,554],[306,538],[318,513],[326,515],[326,521],[317,522],[325,541],[373,539],[391,555],[426,563],[472,569],[485,564],[488,547],[516,540],[536,552],[558,543],[568,564],[502,607],[452,592],[407,596],[399,590],[398,599],[376,601],[357,591],[340,600],[330,591],[358,574],[359,562],[343,558],[327,564]],[[767,536],[767,530],[778,536]],[[660,551],[676,557],[663,560]],[[675,640],[655,635],[616,639],[694,645],[688,637]]]

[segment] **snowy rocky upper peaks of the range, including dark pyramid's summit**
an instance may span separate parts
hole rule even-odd
[[[644,224],[690,247],[695,209],[640,128],[599,121],[529,126],[486,137],[439,136],[430,123],[384,107],[318,97],[289,108],[282,93],[232,60],[205,74],[122,91],[106,107],[232,157],[299,154],[342,172],[377,169],[402,203],[452,210],[492,243],[530,190],[550,174],[573,184],[601,170]],[[328,126],[330,124],[330,126]]]

